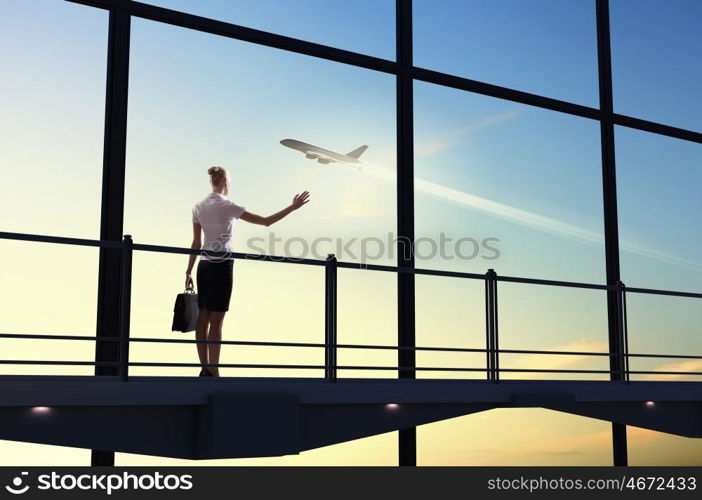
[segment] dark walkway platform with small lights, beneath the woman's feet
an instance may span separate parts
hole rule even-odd
[[[0,439],[187,459],[301,451],[494,408],[702,437],[702,382],[0,376]]]

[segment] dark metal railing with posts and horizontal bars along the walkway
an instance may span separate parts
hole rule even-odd
[[[161,339],[149,337],[130,336],[130,302],[132,281],[132,255],[135,250],[145,252],[177,253],[188,255],[201,255],[202,250],[161,245],[147,245],[134,243],[130,235],[125,235],[121,242],[92,240],[81,238],[66,238],[58,236],[45,236],[24,233],[0,232],[0,239],[34,241],[43,243],[58,243],[78,246],[93,246],[100,248],[121,249],[122,252],[122,280],[120,290],[120,334],[118,337],[107,336],[81,336],[81,335],[50,335],[50,334],[18,334],[0,333],[0,338],[15,339],[51,339],[51,340],[90,340],[95,342],[119,342],[119,361],[50,361],[50,360],[0,360],[0,364],[13,365],[74,365],[74,366],[117,366],[119,377],[128,380],[130,366],[158,366],[158,367],[200,367],[200,363],[163,363],[163,362],[130,362],[129,345],[131,342],[146,343],[219,343],[221,345],[248,345],[248,346],[276,346],[276,347],[306,347],[324,349],[324,365],[296,365],[296,364],[245,364],[245,363],[218,363],[205,366],[235,367],[235,368],[271,368],[271,369],[319,369],[324,370],[324,378],[328,382],[337,380],[338,370],[393,370],[393,371],[447,371],[447,372],[485,372],[488,380],[499,382],[501,372],[521,373],[589,373],[616,375],[620,380],[629,382],[632,374],[658,374],[658,375],[702,375],[694,371],[659,371],[659,370],[630,370],[630,358],[663,358],[663,359],[702,359],[702,356],[685,354],[652,354],[628,352],[628,332],[626,315],[627,293],[657,294],[676,297],[702,298],[702,293],[679,292],[672,290],[657,290],[649,288],[629,288],[622,282],[616,285],[601,285],[593,283],[578,283],[570,281],[545,280],[536,278],[523,278],[515,276],[500,276],[493,269],[485,274],[442,271],[435,269],[419,269],[413,267],[386,266],[366,263],[341,262],[334,255],[329,255],[326,260],[292,258],[273,255],[249,254],[240,252],[214,252],[207,251],[211,256],[229,256],[235,259],[258,260],[267,262],[290,263],[298,265],[323,266],[325,269],[325,337],[324,343],[309,342],[266,342],[266,341],[234,341],[234,340],[198,340],[198,339]],[[364,344],[339,344],[337,343],[337,270],[365,269],[379,272],[411,273],[415,275],[455,277],[485,282],[485,317],[486,317],[486,347],[437,347],[437,346],[402,346],[402,345],[364,345]],[[498,282],[514,282],[532,285],[571,287],[581,289],[603,290],[613,292],[617,301],[617,328],[616,352],[585,352],[585,351],[545,351],[527,349],[500,349],[498,331]],[[338,349],[377,349],[377,350],[413,350],[434,352],[465,352],[484,353],[486,367],[426,367],[426,366],[339,366],[337,363]],[[500,368],[500,354],[544,354],[559,356],[594,356],[615,358],[618,360],[618,370],[586,370],[586,369],[555,369],[555,368]]]

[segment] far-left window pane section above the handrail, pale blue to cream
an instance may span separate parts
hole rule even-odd
[[[4,231],[99,236],[107,27],[101,9],[0,2]]]

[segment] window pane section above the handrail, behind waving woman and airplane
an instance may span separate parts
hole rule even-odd
[[[138,19],[130,70],[125,228],[135,241],[189,244],[192,206],[221,165],[229,198],[254,213],[311,193],[270,228],[239,221],[235,251],[394,262],[360,241],[395,228],[393,77]],[[287,138],[342,154],[368,145],[365,165],[308,159]]]

